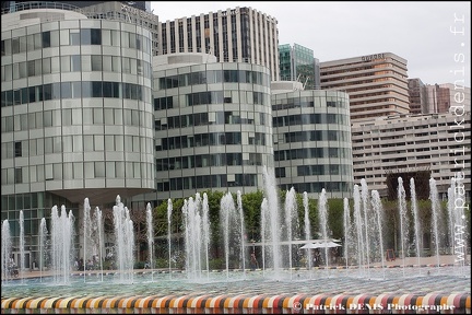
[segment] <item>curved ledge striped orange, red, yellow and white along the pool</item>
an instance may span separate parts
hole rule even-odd
[[[373,311],[375,310],[375,311]],[[470,314],[465,293],[2,298],[1,314]]]

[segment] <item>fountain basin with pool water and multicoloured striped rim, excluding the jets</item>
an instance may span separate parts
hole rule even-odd
[[[189,280],[186,272],[135,272],[120,283],[109,273],[71,275],[70,284],[44,277],[2,285],[2,314],[467,314],[471,312],[470,266],[335,268],[210,272]],[[437,273],[439,270],[439,273]],[[463,272],[462,272],[463,271]],[[464,276],[467,275],[467,276]],[[43,281],[43,282],[39,282]]]

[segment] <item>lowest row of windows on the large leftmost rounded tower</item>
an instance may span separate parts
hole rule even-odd
[[[93,178],[154,179],[153,164],[142,162],[101,161],[40,164],[1,170],[1,185],[42,183],[55,179]]]

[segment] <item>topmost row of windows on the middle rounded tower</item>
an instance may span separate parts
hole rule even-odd
[[[160,78],[157,82],[157,90],[228,82],[270,86],[270,77],[251,70],[208,70]]]

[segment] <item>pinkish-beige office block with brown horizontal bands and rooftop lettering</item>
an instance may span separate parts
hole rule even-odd
[[[406,60],[382,52],[320,62],[321,89],[350,95],[351,120],[410,113]]]

